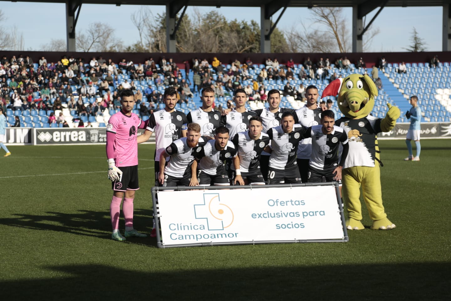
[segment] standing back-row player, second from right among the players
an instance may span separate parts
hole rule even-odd
[[[295,110],[279,107],[281,103],[281,93],[277,89],[269,90],[268,92],[268,107],[255,110],[257,116],[262,118],[263,133],[266,133],[269,129],[281,124],[282,114],[284,112],[295,113]],[[298,122],[298,117],[294,115],[295,123]],[[268,180],[268,166],[269,166],[269,153],[263,152],[260,158],[260,167],[262,175],[265,181]]]

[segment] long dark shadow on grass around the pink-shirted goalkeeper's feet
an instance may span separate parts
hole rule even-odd
[[[133,213],[133,227],[140,232],[150,234],[152,231],[153,211],[135,209]],[[95,236],[111,239],[111,220],[108,211],[78,210],[77,213],[46,212],[36,214],[12,214],[12,218],[0,218],[0,224],[10,227],[20,227],[31,230],[55,231],[76,235]],[[124,216],[121,211],[120,229],[124,232]],[[139,242],[141,245],[156,247],[156,239],[128,239],[127,242]]]

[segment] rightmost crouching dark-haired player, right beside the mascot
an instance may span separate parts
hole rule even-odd
[[[312,154],[309,161],[308,182],[338,181],[341,183],[341,170],[348,156],[348,135],[335,125],[335,114],[331,110],[321,114],[321,125],[313,125],[305,130],[302,137],[312,140]],[[338,148],[343,146],[340,163]]]

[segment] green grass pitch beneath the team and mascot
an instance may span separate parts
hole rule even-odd
[[[10,146],[0,157],[1,299],[450,300],[451,140],[422,140],[420,162],[403,161],[403,140],[379,144],[396,229],[350,231],[348,243],[174,249],[110,239],[105,146]],[[147,234],[153,148],[139,146],[134,202],[134,227]]]

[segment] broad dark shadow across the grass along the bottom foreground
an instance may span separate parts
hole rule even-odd
[[[69,273],[72,276],[3,281],[0,282],[2,299],[449,300],[451,286],[450,263],[173,272],[138,272],[103,265],[53,266],[48,269],[55,275]]]

